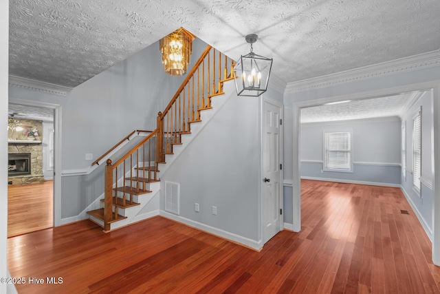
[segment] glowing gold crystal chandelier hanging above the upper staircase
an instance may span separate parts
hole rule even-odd
[[[194,39],[195,35],[184,28],[179,28],[160,39],[159,50],[162,52],[162,64],[167,74],[171,76],[186,74]]]

